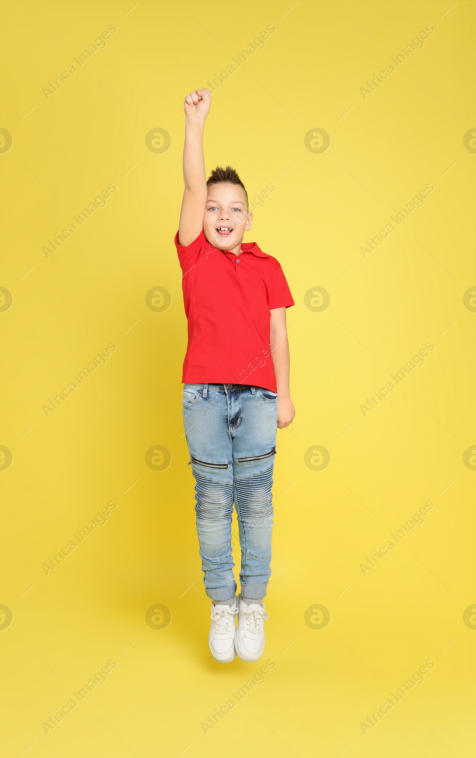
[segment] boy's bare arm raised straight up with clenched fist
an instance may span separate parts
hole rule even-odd
[[[178,222],[178,242],[190,245],[203,228],[206,207],[206,174],[203,128],[210,111],[210,89],[197,89],[185,98],[184,198]]]

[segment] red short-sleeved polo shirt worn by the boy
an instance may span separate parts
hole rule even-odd
[[[203,230],[178,244],[188,346],[184,384],[254,384],[276,392],[270,350],[270,310],[294,305],[276,258],[256,243],[222,252]]]

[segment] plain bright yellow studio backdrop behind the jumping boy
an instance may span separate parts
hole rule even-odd
[[[471,756],[476,631],[463,612],[476,601],[476,473],[463,453],[475,441],[476,315],[463,294],[475,283],[476,155],[463,135],[476,124],[474,2],[131,6],[4,9],[0,127],[13,146],[0,154],[0,286],[13,305],[0,313],[0,445],[13,463],[0,471],[0,603],[13,622],[0,631],[2,753]],[[112,24],[106,48],[46,99]],[[296,418],[279,432],[261,661],[276,666],[205,734],[201,722],[258,666],[220,666],[207,643],[173,244],[182,102],[271,24],[213,96],[205,155],[207,170],[234,165],[250,199],[276,186],[245,240],[279,259],[296,302]],[[367,79],[430,24],[423,49],[364,99]],[[156,127],[172,136],[162,154],[145,144]],[[314,127],[331,137],[321,154],[304,145]],[[106,207],[46,258],[52,234],[109,183]],[[427,183],[424,207],[364,258],[367,237]],[[153,287],[172,295],[165,312],[146,305]],[[324,312],[304,305],[312,287],[330,293]],[[52,393],[111,342],[107,365],[46,418]],[[359,406],[427,342],[424,365],[364,418]],[[172,453],[165,471],[145,462],[157,445]],[[331,456],[323,471],[304,463],[316,445]],[[46,575],[110,500],[106,525]],[[427,500],[424,525],[364,576],[366,556]],[[145,622],[157,603],[172,612],[167,628]],[[304,622],[316,604],[326,628]],[[110,659],[106,684],[46,735],[42,722]],[[364,735],[360,723],[427,659],[424,683]]]

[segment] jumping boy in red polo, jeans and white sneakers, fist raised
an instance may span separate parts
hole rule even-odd
[[[244,184],[234,169],[206,180],[203,128],[210,89],[185,98],[184,198],[175,236],[188,318],[184,428],[195,478],[203,582],[212,600],[209,644],[222,663],[263,653],[270,578],[276,428],[291,424],[282,268],[255,243]],[[271,357],[273,351],[273,357]],[[241,545],[235,597],[232,511]],[[238,614],[238,629],[235,627]]]

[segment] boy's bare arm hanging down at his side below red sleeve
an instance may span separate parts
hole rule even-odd
[[[289,344],[286,331],[286,309],[273,308],[270,320],[270,343],[273,346],[274,374],[278,390],[278,429],[292,424],[295,406],[289,391]]]

